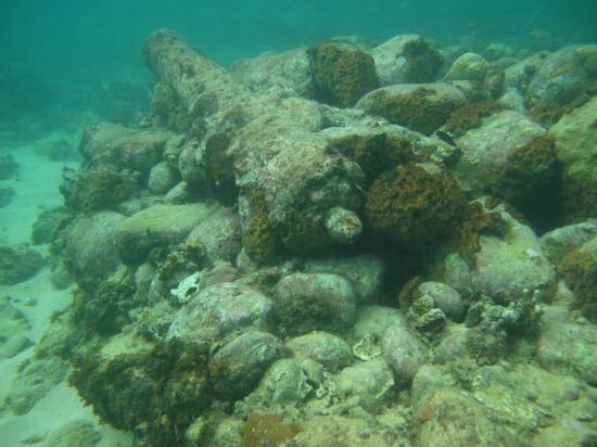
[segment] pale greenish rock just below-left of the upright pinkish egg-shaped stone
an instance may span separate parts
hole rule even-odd
[[[394,374],[382,358],[346,367],[336,379],[342,398],[373,414],[393,396]]]

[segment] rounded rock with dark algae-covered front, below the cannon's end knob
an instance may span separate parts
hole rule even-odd
[[[351,283],[338,274],[294,273],[276,286],[277,329],[284,334],[345,328],[355,308]]]

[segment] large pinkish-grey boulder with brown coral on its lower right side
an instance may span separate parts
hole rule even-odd
[[[504,193],[496,186],[504,183],[505,170],[511,158],[517,151],[525,150],[534,138],[545,132],[543,127],[518,112],[504,111],[483,118],[480,128],[456,139],[462,156],[453,171],[466,191],[480,194],[494,188],[497,193]],[[539,155],[536,164],[542,162]],[[531,173],[520,175],[525,178]]]

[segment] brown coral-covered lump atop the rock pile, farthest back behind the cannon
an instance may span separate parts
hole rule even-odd
[[[364,51],[321,43],[307,55],[319,101],[346,107],[379,87],[373,58]]]

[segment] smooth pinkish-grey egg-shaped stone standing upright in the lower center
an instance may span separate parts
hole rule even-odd
[[[417,370],[429,362],[428,347],[410,331],[402,325],[388,328],[382,340],[383,358],[394,370],[399,384],[408,384]]]

